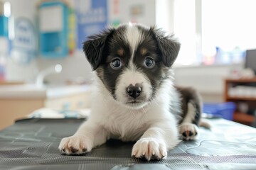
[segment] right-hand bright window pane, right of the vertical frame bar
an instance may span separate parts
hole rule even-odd
[[[202,52],[215,52],[214,63],[243,60],[244,51],[256,48],[255,0],[203,0]]]

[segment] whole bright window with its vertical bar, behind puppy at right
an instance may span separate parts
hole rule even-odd
[[[174,0],[176,65],[233,64],[256,48],[255,0]]]

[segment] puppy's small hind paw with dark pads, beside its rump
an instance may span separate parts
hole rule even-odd
[[[180,125],[180,134],[184,140],[195,140],[198,135],[198,127],[192,123],[183,123]]]

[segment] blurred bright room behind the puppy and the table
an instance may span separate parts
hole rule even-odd
[[[254,0],[2,0],[0,128],[38,108],[90,108],[82,42],[128,22],[176,35],[176,84],[198,89],[206,113],[254,125],[255,8]]]

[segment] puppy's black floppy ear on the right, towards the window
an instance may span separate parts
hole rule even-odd
[[[162,61],[166,67],[171,67],[178,56],[181,44],[176,41],[173,35],[165,35],[161,29],[150,28],[153,31],[158,50],[161,54]]]

